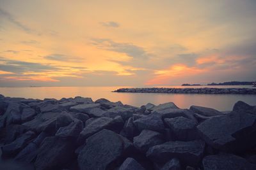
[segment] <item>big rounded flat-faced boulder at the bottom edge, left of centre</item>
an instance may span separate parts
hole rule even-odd
[[[86,145],[77,157],[79,169],[114,169],[131,146],[127,139],[103,129],[86,140]]]

